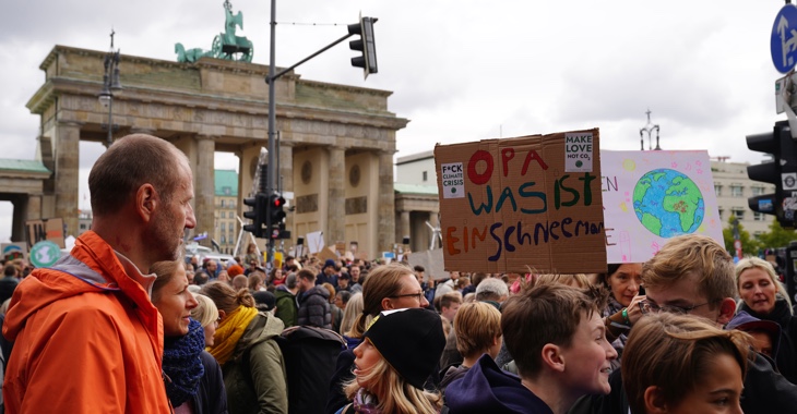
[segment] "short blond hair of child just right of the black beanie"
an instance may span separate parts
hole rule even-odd
[[[462,356],[481,355],[501,336],[501,313],[489,303],[466,303],[454,316],[454,331]]]

